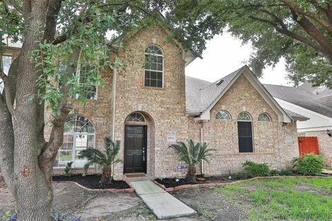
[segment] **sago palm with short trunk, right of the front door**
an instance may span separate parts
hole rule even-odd
[[[184,142],[178,142],[177,144],[172,144],[169,146],[176,151],[178,154],[178,159],[182,160],[188,165],[187,175],[185,175],[185,180],[190,183],[196,182],[196,166],[201,162],[201,160],[207,160],[213,151],[212,148],[208,148],[208,145],[203,143],[195,144],[193,140],[188,140],[188,146]]]

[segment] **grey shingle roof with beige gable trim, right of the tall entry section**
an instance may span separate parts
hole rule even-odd
[[[275,99],[268,93],[268,90],[259,82],[248,66],[243,66],[233,73],[208,84],[206,81],[199,82],[199,79],[186,77],[186,113],[199,115],[197,119],[210,119],[210,110],[226,93],[228,88],[234,84],[239,76],[244,75],[254,86],[257,92],[277,113],[279,122],[292,122],[291,117],[279,106]]]

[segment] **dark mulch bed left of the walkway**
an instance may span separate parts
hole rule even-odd
[[[66,177],[64,175],[54,175],[53,181],[71,181],[77,182],[78,184],[85,186],[89,189],[130,189],[131,186],[127,184],[127,182],[123,180],[113,180],[109,184],[101,185],[100,179],[102,175],[93,174],[82,176],[82,174],[71,175],[70,177]]]

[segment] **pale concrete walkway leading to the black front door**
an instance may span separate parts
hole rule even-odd
[[[196,211],[174,198],[151,180],[130,182],[137,195],[158,219],[178,218],[196,214]]]

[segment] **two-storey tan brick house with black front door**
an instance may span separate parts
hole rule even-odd
[[[105,84],[85,107],[70,100],[73,111],[55,171],[70,161],[82,168],[86,161],[78,153],[103,148],[106,136],[122,145],[116,180],[126,179],[126,173],[149,179],[185,175],[168,146],[190,138],[215,149],[199,166],[205,175],[240,171],[246,160],[273,169],[291,166],[299,155],[295,121],[303,116],[286,113],[247,66],[214,83],[185,77],[185,66],[196,56],[168,36],[167,29],[154,25],[124,37],[127,52],[118,52],[123,66],[102,73]]]

